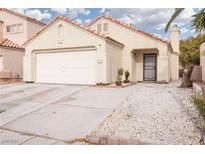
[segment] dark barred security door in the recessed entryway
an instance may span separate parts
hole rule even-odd
[[[144,54],[144,81],[156,81],[157,54]]]

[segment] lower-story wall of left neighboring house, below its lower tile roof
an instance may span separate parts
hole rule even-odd
[[[3,66],[1,71],[11,72],[11,78],[16,74],[23,77],[23,56],[24,51],[8,48],[0,48],[0,55],[3,57]]]

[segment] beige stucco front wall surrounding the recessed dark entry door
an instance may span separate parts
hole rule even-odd
[[[131,80],[132,81],[142,81],[142,67],[143,63],[142,60],[135,63],[135,58],[132,56],[131,51],[133,49],[147,49],[153,48],[159,51],[159,55],[157,57],[157,81],[169,81],[170,80],[170,69],[169,67],[169,56],[168,56],[168,47],[167,44],[159,42],[153,38],[150,38],[144,34],[133,32],[111,22],[107,19],[101,18],[93,23],[90,27],[97,30],[98,23],[108,23],[108,33],[110,37],[114,38],[115,40],[123,43],[125,47],[122,51],[122,66],[126,70],[130,71]],[[139,51],[140,52],[140,51]],[[138,53],[138,59],[141,58],[141,52]]]

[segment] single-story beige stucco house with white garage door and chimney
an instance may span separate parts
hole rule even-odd
[[[40,83],[113,83],[117,69],[131,81],[179,78],[179,29],[171,43],[108,16],[87,27],[57,17],[25,44],[24,81]]]

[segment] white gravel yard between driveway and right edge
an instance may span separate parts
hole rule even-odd
[[[137,83],[133,92],[91,135],[136,139],[150,144],[200,144],[199,114],[191,89]]]

